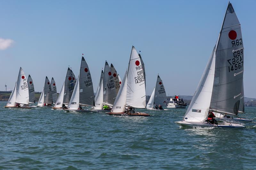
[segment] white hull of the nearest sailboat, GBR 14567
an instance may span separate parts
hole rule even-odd
[[[175,122],[179,124],[180,126],[183,127],[217,127],[217,128],[245,128],[244,125],[239,124],[239,123],[231,123],[231,122],[223,122],[223,123],[218,123],[218,125],[213,125],[209,122],[187,122],[187,121],[179,121]]]

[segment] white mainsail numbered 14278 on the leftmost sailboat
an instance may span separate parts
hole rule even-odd
[[[29,104],[28,82],[21,67],[16,85],[16,103]]]

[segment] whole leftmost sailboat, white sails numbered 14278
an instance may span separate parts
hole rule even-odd
[[[20,67],[18,80],[12,90],[11,96],[6,104],[6,108],[31,108],[29,104],[29,90],[26,75]]]

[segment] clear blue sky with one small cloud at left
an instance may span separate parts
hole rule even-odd
[[[242,28],[244,93],[256,98],[256,1],[231,1]],[[132,45],[141,51],[146,94],[157,74],[167,95],[193,95],[217,41],[228,1],[0,1],[0,90],[12,90],[20,67],[42,91],[57,92],[81,56],[94,92],[105,60],[121,78]]]

